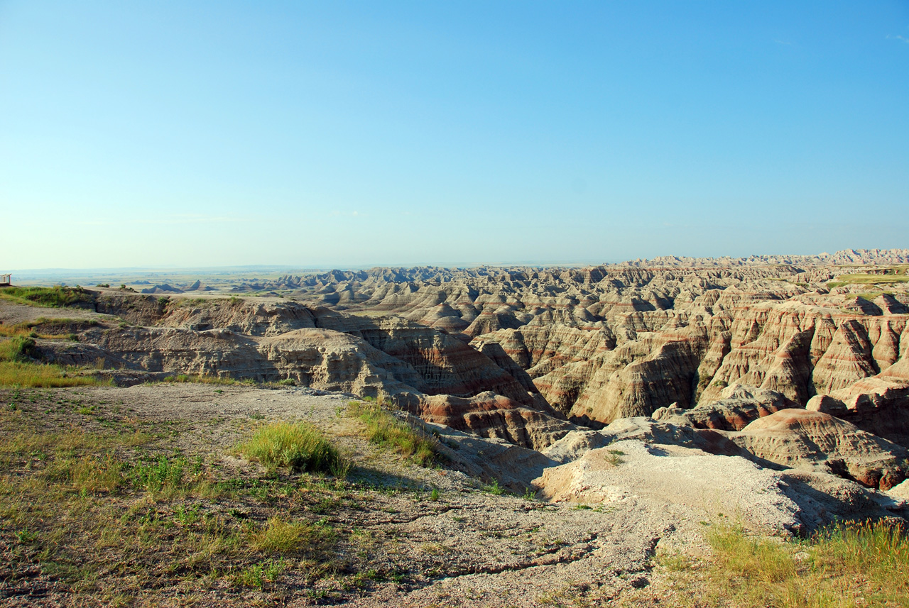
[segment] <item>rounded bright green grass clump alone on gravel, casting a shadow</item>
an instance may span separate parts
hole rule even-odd
[[[339,478],[346,476],[350,466],[318,429],[299,422],[259,428],[240,446],[240,453],[269,469],[286,467]]]

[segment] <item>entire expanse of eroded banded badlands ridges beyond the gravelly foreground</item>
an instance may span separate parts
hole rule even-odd
[[[204,374],[380,397],[491,440],[558,446],[554,464],[604,448],[597,429],[654,417],[657,445],[886,490],[909,472],[907,262],[909,250],[858,250],[236,287],[283,298],[102,289],[102,322],[38,347],[123,381]]]

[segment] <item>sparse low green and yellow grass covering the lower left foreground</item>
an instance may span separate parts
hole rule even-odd
[[[41,408],[101,413],[75,396],[53,407],[46,395],[7,392]],[[297,502],[324,495],[320,486],[304,493],[300,483],[215,481],[201,456],[163,453],[165,435],[123,417],[105,430],[63,432],[43,430],[45,419],[35,406],[0,411],[5,581],[50,577],[77,605],[132,605],[171,589],[279,588],[290,564],[306,586],[338,586],[330,577],[345,567],[336,557],[343,541],[324,520],[306,521]],[[225,510],[220,500],[265,516]]]

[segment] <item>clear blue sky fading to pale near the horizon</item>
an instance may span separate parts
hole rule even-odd
[[[907,93],[905,0],[0,0],[0,270],[909,247]]]

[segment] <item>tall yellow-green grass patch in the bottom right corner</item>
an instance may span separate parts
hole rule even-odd
[[[909,606],[909,537],[904,525],[878,521],[826,528],[804,541],[754,538],[740,528],[708,534],[714,560],[664,560],[676,577],[701,579],[696,605],[778,608]],[[693,581],[688,579],[689,583]],[[681,586],[681,585],[680,585]]]

